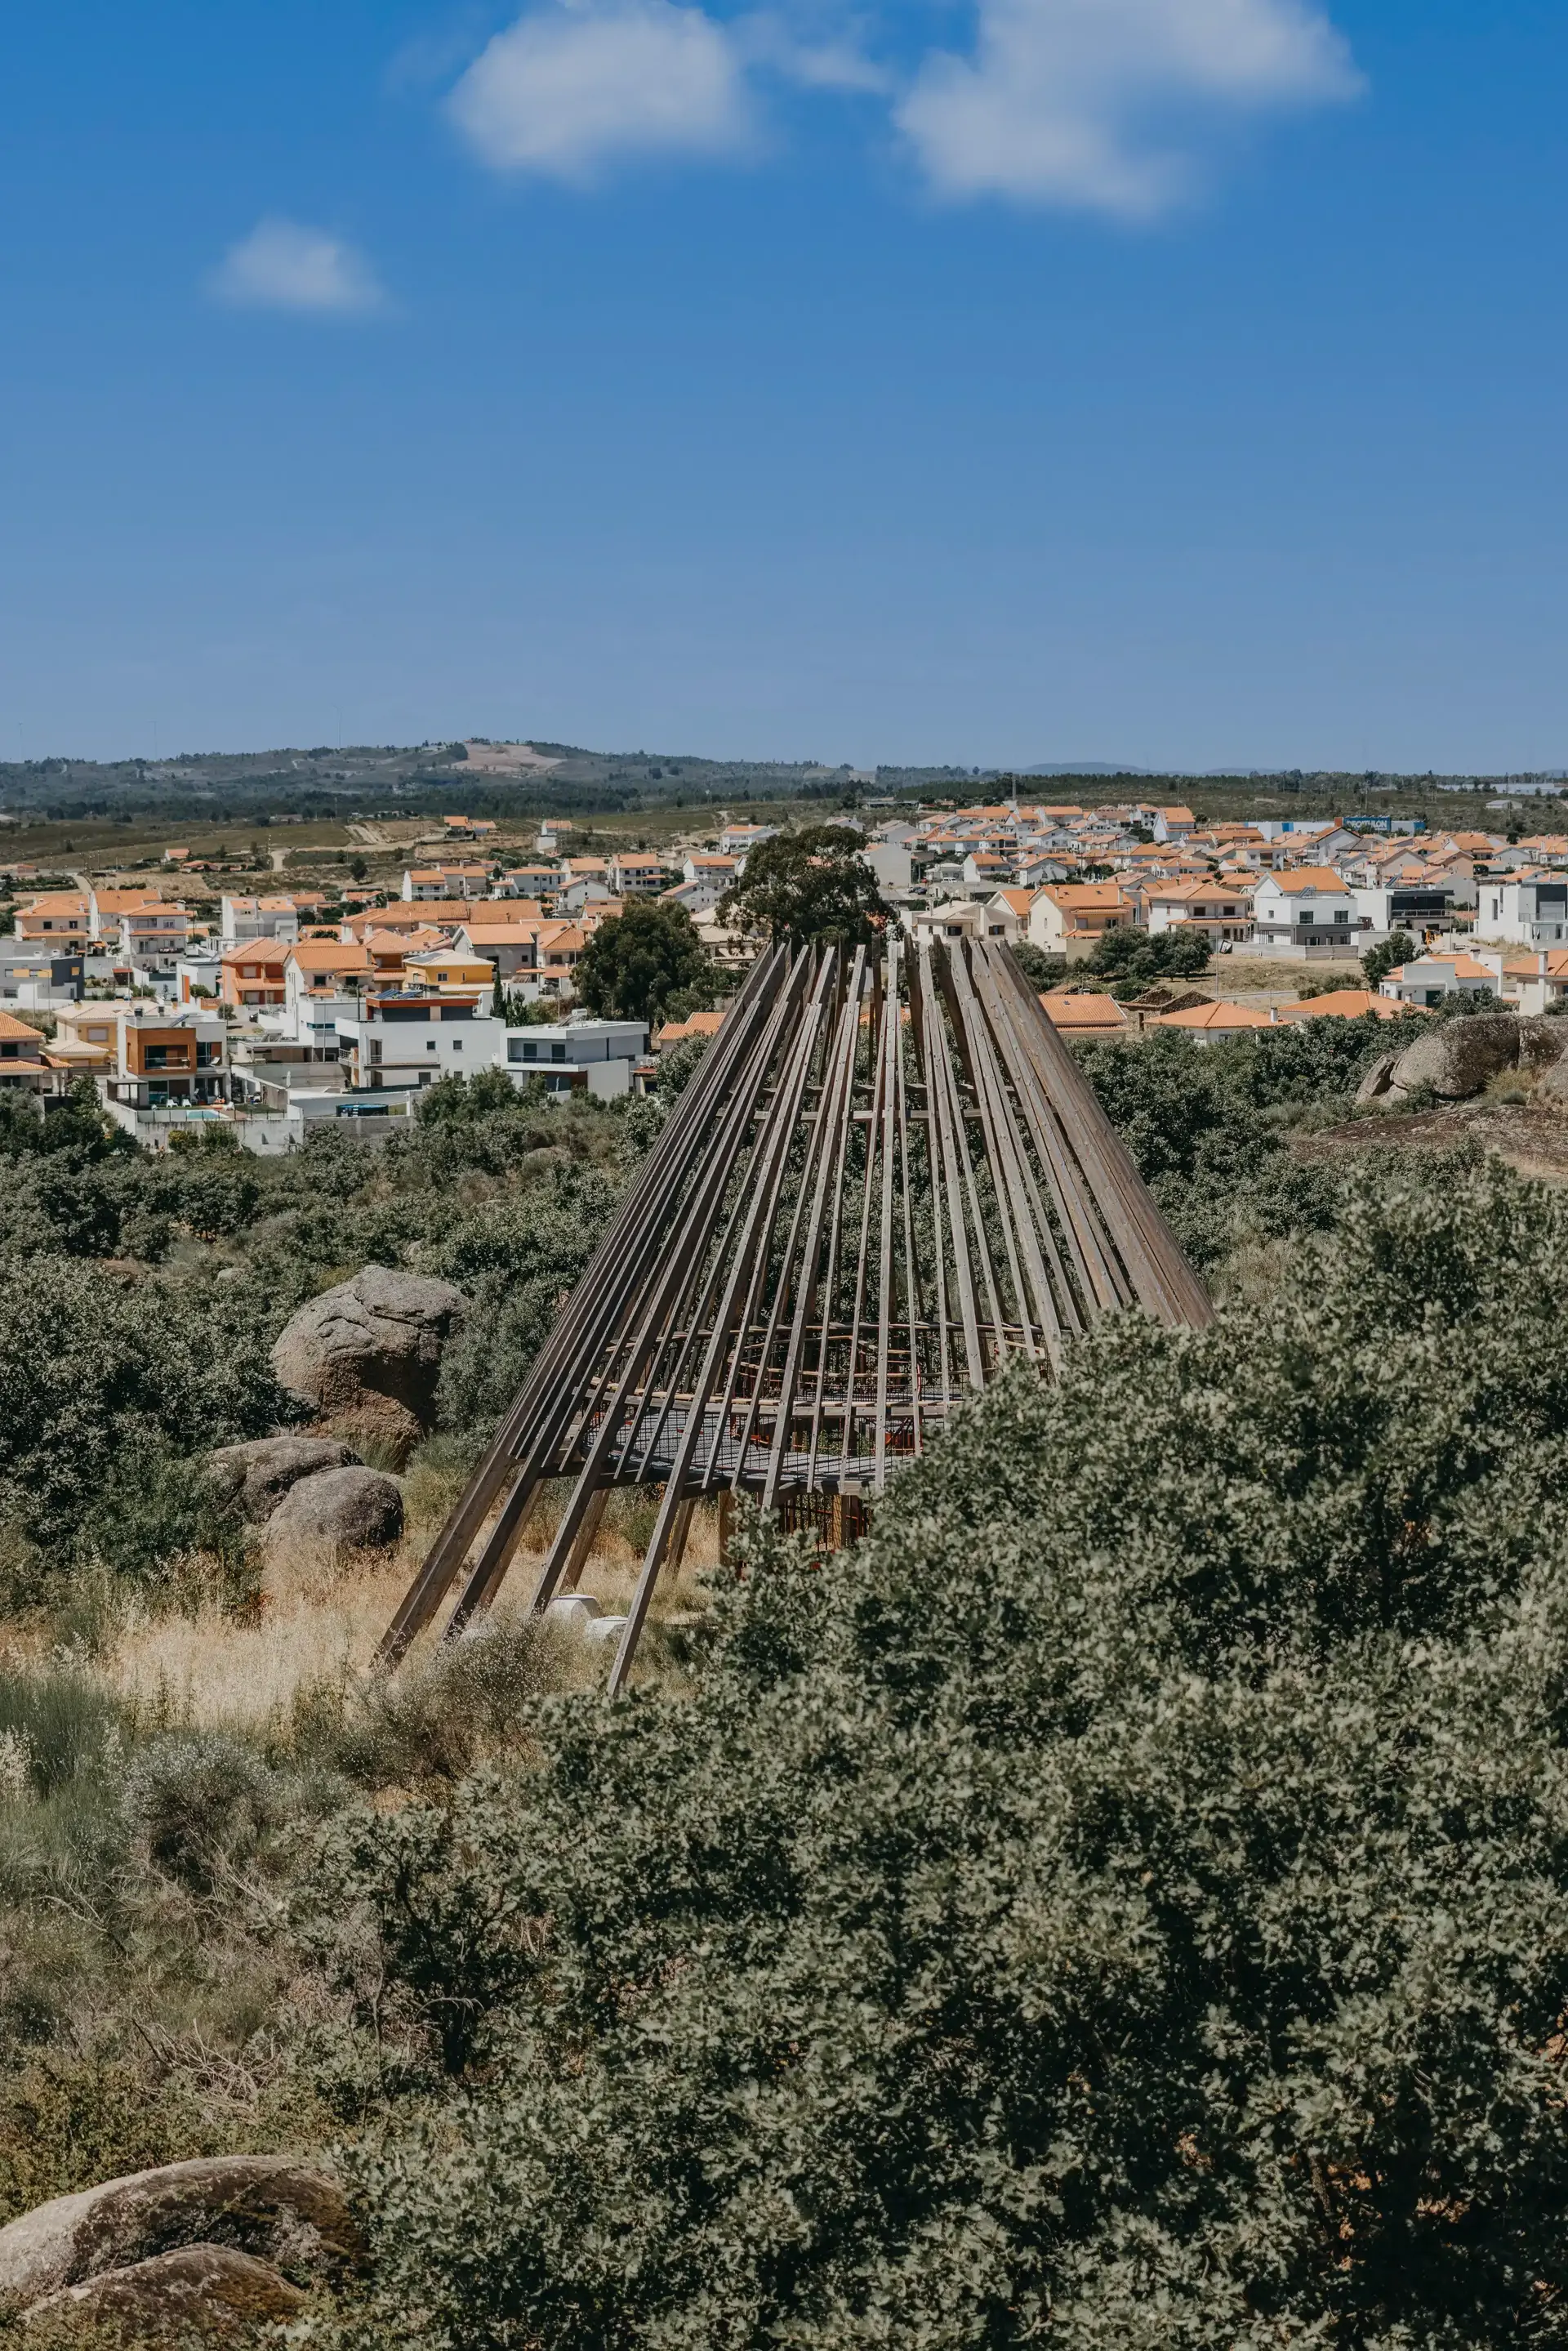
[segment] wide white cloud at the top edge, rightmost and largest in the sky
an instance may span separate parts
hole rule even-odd
[[[1150,219],[1192,186],[1173,125],[1359,89],[1312,0],[980,0],[973,56],[931,54],[896,120],[943,195]]]

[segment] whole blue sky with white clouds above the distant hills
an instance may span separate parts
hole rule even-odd
[[[1568,764],[1561,0],[12,0],[0,755]]]

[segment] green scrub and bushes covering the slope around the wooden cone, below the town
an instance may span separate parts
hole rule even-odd
[[[468,1288],[461,1469],[665,1107],[5,1110],[0,2219],[334,2146],[343,2351],[1566,2344],[1568,1204],[1298,1161],[1387,1044],[1091,1049],[1215,1328],[994,1389],[832,1573],[757,1528],[679,1693],[512,1627],[247,1733],[92,1650],[193,1559],[254,1608],[193,1455],[287,1418],[280,1324]]]

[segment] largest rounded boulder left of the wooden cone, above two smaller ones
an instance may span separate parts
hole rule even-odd
[[[442,1349],[465,1312],[449,1281],[367,1265],[289,1317],[273,1373],[331,1427],[407,1448],[430,1427]]]

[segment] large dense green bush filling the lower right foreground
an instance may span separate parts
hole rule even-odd
[[[689,1702],[346,1822],[451,2083],[360,2339],[1561,2342],[1566,1310],[1559,1194],[1366,1187],[752,1538]]]

